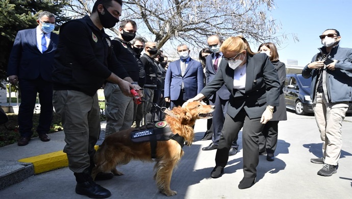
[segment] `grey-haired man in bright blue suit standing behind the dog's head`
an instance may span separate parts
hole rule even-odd
[[[179,60],[169,64],[166,70],[164,97],[170,109],[182,106],[188,99],[197,95],[204,87],[202,64],[189,57],[186,44],[177,46]]]

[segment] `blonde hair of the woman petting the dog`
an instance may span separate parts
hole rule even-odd
[[[225,39],[220,47],[222,53],[229,51],[241,52],[243,50],[245,50],[249,56],[257,54],[250,49],[248,41],[243,36],[229,37]]]

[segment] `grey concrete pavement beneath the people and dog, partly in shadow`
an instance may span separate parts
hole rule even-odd
[[[104,128],[104,123],[102,128]],[[206,122],[199,120],[195,126],[195,139],[204,134]],[[275,161],[260,156],[257,183],[249,188],[237,188],[243,177],[242,135],[238,143],[240,151],[229,158],[224,175],[211,179],[215,166],[215,153],[202,151],[211,141],[195,141],[184,146],[185,155],[179,168],[173,172],[171,189],[178,191],[172,198],[350,198],[352,193],[352,117],[343,122],[343,147],[339,169],[332,177],[316,173],[321,164],[313,164],[310,158],[320,157],[321,141],[314,116],[299,116],[288,112],[288,120],[279,122],[279,142]],[[52,140],[41,142],[32,139],[27,146],[16,144],[0,148],[0,162],[13,161],[52,152],[62,151],[62,132],[50,135]],[[52,160],[55,160],[53,158]],[[98,184],[112,192],[110,198],[166,198],[160,194],[153,180],[153,163],[138,161],[119,166],[123,176]],[[76,182],[67,168],[44,172],[0,191],[0,198],[87,198],[74,193]]]

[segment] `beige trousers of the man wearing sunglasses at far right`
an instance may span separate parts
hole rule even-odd
[[[337,165],[342,148],[342,121],[348,109],[348,102],[329,103],[324,93],[316,93],[313,105],[315,121],[323,141],[322,152],[324,163]]]

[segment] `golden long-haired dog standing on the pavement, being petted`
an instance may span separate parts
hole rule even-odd
[[[194,137],[195,120],[211,118],[214,109],[215,106],[191,102],[185,108],[173,108],[171,110],[173,114],[166,115],[165,120],[171,132],[182,136],[184,141],[190,145]],[[131,160],[153,161],[150,142],[132,141],[131,132],[133,130],[134,128],[119,131],[105,138],[94,156],[96,166],[92,171],[93,179],[99,172],[112,172],[116,176],[123,175],[117,171],[116,166],[127,164]],[[167,196],[177,194],[176,191],[170,189],[170,181],[172,170],[182,156],[183,150],[179,142],[173,139],[157,141],[154,180],[160,192]]]

